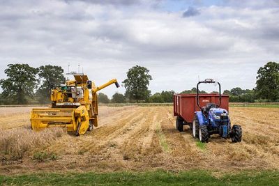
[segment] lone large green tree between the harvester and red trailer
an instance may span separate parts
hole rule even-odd
[[[148,89],[151,80],[152,77],[147,68],[139,65],[130,68],[127,72],[127,79],[122,82],[126,88],[126,97],[132,102],[146,101],[151,93]]]

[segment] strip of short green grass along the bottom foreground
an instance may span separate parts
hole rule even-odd
[[[278,185],[278,171],[204,170],[111,173],[29,173],[0,176],[1,185]]]

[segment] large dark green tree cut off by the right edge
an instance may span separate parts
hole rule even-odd
[[[257,70],[255,91],[259,98],[276,101],[279,99],[279,63],[268,62]]]

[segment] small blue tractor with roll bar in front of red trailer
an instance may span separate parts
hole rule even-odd
[[[205,107],[199,105],[199,84],[218,84],[218,104],[208,103]],[[193,130],[193,137],[199,138],[199,141],[208,142],[211,134],[219,134],[220,137],[225,139],[231,138],[233,143],[241,141],[241,125],[231,125],[229,112],[226,109],[220,108],[221,96],[221,86],[219,82],[215,82],[213,79],[206,79],[203,82],[197,83],[196,101],[200,111],[195,111],[195,118],[190,128]]]

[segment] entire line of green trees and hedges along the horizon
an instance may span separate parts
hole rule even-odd
[[[63,68],[56,65],[41,65],[33,68],[28,64],[9,64],[4,71],[7,78],[0,80],[2,93],[0,104],[48,104],[50,91],[54,86],[64,84]],[[151,95],[149,84],[152,80],[149,70],[140,65],[130,68],[122,86],[125,94],[114,93],[112,99],[104,93],[98,93],[98,101],[102,103],[126,102],[172,102],[174,91],[162,91]],[[181,93],[195,94],[194,87]],[[199,91],[206,93],[206,91]],[[211,92],[218,93],[218,92]],[[279,63],[268,62],[257,70],[256,87],[241,89],[240,87],[223,91],[229,95],[230,102],[278,102],[279,101]]]

